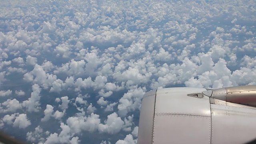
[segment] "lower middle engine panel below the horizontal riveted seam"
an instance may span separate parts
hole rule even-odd
[[[153,144],[210,144],[211,118],[156,114]]]

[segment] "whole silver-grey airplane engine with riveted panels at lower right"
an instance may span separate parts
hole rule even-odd
[[[147,92],[138,144],[246,144],[256,139],[256,86]]]

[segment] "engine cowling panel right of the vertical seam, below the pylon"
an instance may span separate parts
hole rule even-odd
[[[211,104],[211,144],[245,144],[256,138],[256,110]]]

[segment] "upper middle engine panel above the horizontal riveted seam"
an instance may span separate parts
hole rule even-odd
[[[195,98],[191,93],[202,93],[205,88],[164,88],[156,92],[155,114],[186,114],[210,116],[209,97]]]

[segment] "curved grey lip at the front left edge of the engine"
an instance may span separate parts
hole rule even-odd
[[[146,92],[140,108],[138,144],[152,144],[156,90]]]

